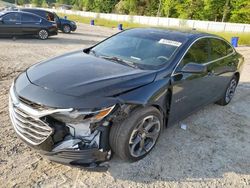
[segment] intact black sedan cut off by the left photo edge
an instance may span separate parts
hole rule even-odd
[[[45,40],[57,35],[57,25],[28,12],[0,13],[0,36],[36,35]]]

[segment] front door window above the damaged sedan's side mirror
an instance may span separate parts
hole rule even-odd
[[[196,41],[182,59],[182,65],[187,63],[203,64],[209,61],[209,43],[207,39]]]

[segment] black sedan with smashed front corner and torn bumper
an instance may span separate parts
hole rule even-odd
[[[137,161],[167,125],[209,103],[227,105],[243,61],[215,35],[126,30],[20,74],[10,118],[17,135],[53,161],[95,167],[112,152]]]

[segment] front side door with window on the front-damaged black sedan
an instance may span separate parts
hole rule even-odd
[[[188,63],[206,64],[209,61],[210,46],[206,38],[196,41],[184,55],[174,71],[172,83],[172,100],[169,123],[174,123],[209,103],[210,73],[183,73],[182,68]]]

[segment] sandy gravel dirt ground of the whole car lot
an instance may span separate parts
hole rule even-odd
[[[237,48],[245,67],[230,105],[208,105],[169,127],[136,163],[114,156],[107,172],[89,172],[50,162],[17,138],[8,117],[12,80],[36,62],[116,32],[80,25],[47,41],[0,39],[0,187],[250,187],[250,47]]]

